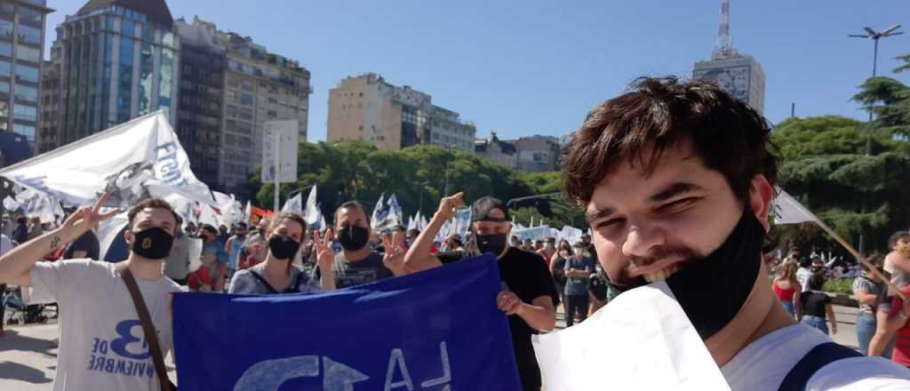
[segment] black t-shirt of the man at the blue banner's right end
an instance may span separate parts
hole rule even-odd
[[[448,264],[470,255],[457,251],[440,253],[436,256],[440,258],[440,262]],[[550,270],[547,269],[547,264],[543,262],[541,256],[510,247],[509,252],[499,260],[497,265],[500,268],[502,282],[510,291],[519,296],[521,301],[531,304],[535,298],[550,296],[553,306],[559,303],[560,298],[556,293],[556,286],[553,285]],[[540,389],[541,368],[537,365],[537,356],[534,355],[534,347],[531,345],[531,335],[538,334],[538,332],[517,315],[509,316],[509,327],[521,384],[525,389]]]

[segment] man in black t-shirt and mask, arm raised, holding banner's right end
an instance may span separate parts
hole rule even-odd
[[[430,224],[405,256],[407,270],[425,270],[474,255],[464,251],[430,254],[433,238],[443,223],[464,205],[462,195],[442,198]],[[470,232],[475,237],[477,249],[480,253],[491,253],[499,260],[497,265],[505,288],[496,296],[496,306],[509,316],[521,385],[525,390],[540,390],[541,369],[531,346],[531,336],[556,326],[555,308],[559,295],[541,256],[508,246],[510,231],[508,210],[500,200],[486,196],[471,206]]]

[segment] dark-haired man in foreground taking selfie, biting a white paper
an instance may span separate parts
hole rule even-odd
[[[586,209],[612,286],[669,286],[733,390],[910,386],[885,360],[816,349],[831,340],[776,304],[761,253],[778,166],[769,134],[717,85],[642,78],[572,134],[563,188]],[[797,366],[806,356],[821,369]]]

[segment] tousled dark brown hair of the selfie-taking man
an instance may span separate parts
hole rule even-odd
[[[562,186],[577,206],[622,163],[652,172],[662,154],[691,141],[704,165],[723,174],[744,200],[754,175],[777,182],[771,129],[762,115],[710,82],[637,79],[623,95],[594,107],[562,151]],[[648,153],[648,152],[651,153]]]

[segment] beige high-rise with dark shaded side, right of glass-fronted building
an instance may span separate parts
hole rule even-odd
[[[265,123],[297,120],[298,139],[307,140],[309,71],[199,18],[176,25],[182,45],[177,132],[187,140],[194,172],[223,192],[252,196],[248,175],[262,159]]]

